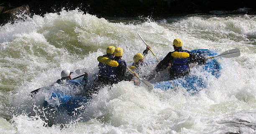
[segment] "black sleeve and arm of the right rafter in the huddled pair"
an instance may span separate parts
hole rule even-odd
[[[133,74],[126,74],[126,66],[124,62],[120,62],[116,68],[116,74],[118,75],[119,81],[131,81],[133,79]]]

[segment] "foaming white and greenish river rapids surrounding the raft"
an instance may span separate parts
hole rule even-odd
[[[175,38],[183,41],[185,50],[221,53],[238,48],[241,56],[220,59],[220,77],[206,77],[206,87],[196,94],[181,87],[176,92],[157,88],[148,92],[133,82],[120,82],[101,89],[84,113],[75,116],[46,112],[42,103],[49,94],[31,99],[31,91],[54,83],[63,69],[84,69],[92,83],[97,57],[109,45],[123,47],[122,59],[131,65],[133,55],[146,49],[137,32],[159,59],[173,51]],[[156,58],[149,53],[145,61]],[[200,75],[197,68],[191,73]],[[72,10],[0,27],[1,134],[227,132],[256,133],[256,15],[135,20]]]

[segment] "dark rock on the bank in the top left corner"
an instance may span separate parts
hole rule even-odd
[[[8,22],[14,22],[15,20],[24,20],[26,15],[30,15],[29,6],[22,5],[10,10],[7,10],[0,14],[0,24],[6,24]]]

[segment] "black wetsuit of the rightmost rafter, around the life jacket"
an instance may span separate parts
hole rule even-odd
[[[184,52],[184,50],[182,50],[182,48],[179,48],[173,52]],[[159,72],[161,70],[166,69],[169,66],[169,63],[173,64],[173,60],[174,57],[172,57],[172,53],[173,52],[169,52],[163,60],[161,60],[158,65],[156,66],[156,72]],[[206,58],[205,57],[201,57],[195,53],[189,52],[187,51],[187,53],[189,53],[189,57],[188,57],[188,63],[198,63],[199,65],[203,65],[206,63]],[[188,72],[184,72],[184,73],[175,73],[172,68],[170,68],[170,79],[176,79],[178,77],[183,77],[184,75],[187,75]]]

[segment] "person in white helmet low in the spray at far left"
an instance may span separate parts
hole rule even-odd
[[[82,79],[82,82],[78,82],[78,81],[72,79],[71,78],[72,73],[73,72],[70,72],[67,69],[62,70],[61,71],[61,79],[58,79],[55,83],[58,83],[58,84],[69,83],[75,87],[84,88],[87,84],[87,77],[88,77],[87,72],[84,72],[84,77]]]

